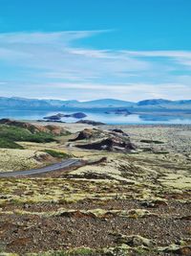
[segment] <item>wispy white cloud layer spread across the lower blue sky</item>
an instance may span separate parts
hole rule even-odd
[[[6,79],[10,92],[23,97],[38,93],[39,98],[45,94],[60,98],[63,93],[64,99],[79,100],[108,95],[130,101],[190,97],[191,76],[185,66],[191,66],[191,52],[74,45],[75,40],[100,33],[106,31],[0,34],[0,68],[6,62],[8,74],[9,67],[14,70],[14,75]]]

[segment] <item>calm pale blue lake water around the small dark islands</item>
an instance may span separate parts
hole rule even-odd
[[[91,113],[83,111],[87,114],[85,119],[94,120],[111,125],[133,125],[133,124],[191,124],[191,115],[159,115],[157,114],[131,114],[128,116],[117,115],[114,113]],[[71,114],[74,111],[60,112],[64,114]],[[42,120],[45,116],[57,114],[56,111],[37,111],[37,110],[2,110],[0,111],[0,118],[10,118],[18,120]],[[74,123],[78,121],[74,118],[62,118],[63,122]]]

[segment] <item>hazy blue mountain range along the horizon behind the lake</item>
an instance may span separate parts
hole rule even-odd
[[[138,103],[120,101],[115,99],[101,99],[88,102],[61,101],[61,100],[37,100],[17,97],[0,97],[0,108],[28,109],[28,110],[101,110],[125,107],[135,111],[166,111],[166,110],[191,110],[191,100],[169,101],[164,99],[150,99]]]

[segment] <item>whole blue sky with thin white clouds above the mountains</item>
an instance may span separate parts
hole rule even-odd
[[[0,96],[191,99],[190,0],[0,0]]]

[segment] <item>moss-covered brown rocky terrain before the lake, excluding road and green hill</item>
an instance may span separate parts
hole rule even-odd
[[[190,126],[58,128],[68,133],[17,141],[17,151],[59,151],[84,165],[0,179],[0,255],[191,255]]]

